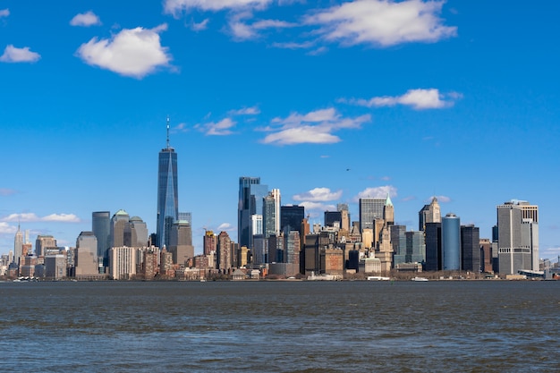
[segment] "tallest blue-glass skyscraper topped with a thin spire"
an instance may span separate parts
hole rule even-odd
[[[169,117],[167,117],[167,146],[159,152],[157,164],[157,229],[156,244],[169,246],[169,233],[179,218],[177,189],[177,153],[169,146]]]

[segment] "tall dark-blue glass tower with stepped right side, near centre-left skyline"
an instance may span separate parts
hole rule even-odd
[[[262,215],[263,200],[268,186],[260,183],[259,177],[239,178],[239,203],[237,205],[237,241],[241,246],[252,247],[252,224],[250,216]]]

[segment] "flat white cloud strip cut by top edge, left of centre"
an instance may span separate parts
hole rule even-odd
[[[165,13],[178,14],[191,9],[201,11],[237,10],[242,8],[264,9],[272,0],[165,0]]]

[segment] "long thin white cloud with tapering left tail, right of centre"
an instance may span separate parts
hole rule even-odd
[[[454,100],[462,97],[461,94],[451,92],[442,94],[438,89],[409,89],[402,96],[380,96],[369,99],[340,98],[338,102],[366,107],[381,106],[412,106],[415,110],[441,109],[454,105]]]

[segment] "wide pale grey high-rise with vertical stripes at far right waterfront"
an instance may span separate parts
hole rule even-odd
[[[539,207],[513,199],[496,209],[499,272],[539,270]]]

